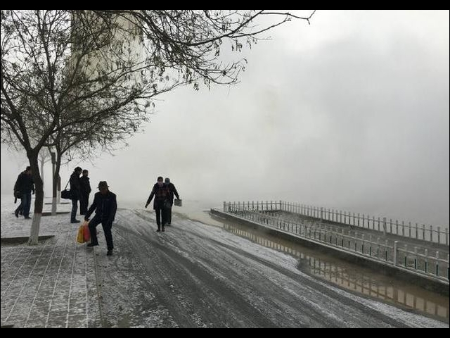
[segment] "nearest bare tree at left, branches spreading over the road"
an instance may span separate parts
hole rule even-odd
[[[221,60],[224,42],[240,51],[262,33],[311,15],[1,10],[1,141],[22,146],[32,167],[36,199],[29,244],[37,244],[43,207],[43,146],[56,146],[66,135],[68,149],[93,142],[85,136],[72,142],[77,133],[91,132],[103,144],[115,142],[118,130],[120,137],[129,136],[148,120],[154,96],[181,84],[198,89],[201,80],[207,86],[236,83],[246,61]],[[267,17],[276,20],[257,23]]]

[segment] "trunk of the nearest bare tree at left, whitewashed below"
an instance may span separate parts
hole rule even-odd
[[[31,223],[30,238],[28,245],[37,245],[39,239],[39,226],[41,225],[42,209],[44,207],[44,185],[39,173],[38,155],[34,153],[27,154],[32,170],[34,180],[34,214]]]

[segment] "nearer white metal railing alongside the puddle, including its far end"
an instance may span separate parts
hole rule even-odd
[[[283,208],[283,203],[282,201],[254,202],[254,204],[252,202],[224,202],[224,212],[295,234],[310,242],[332,246],[357,256],[382,261],[394,267],[413,270],[415,273],[437,280],[449,281],[448,253],[444,258],[441,257],[442,253],[426,246],[412,246],[392,239],[382,239],[373,234],[364,233],[364,230],[359,231],[326,224],[316,218],[285,219],[276,212]]]

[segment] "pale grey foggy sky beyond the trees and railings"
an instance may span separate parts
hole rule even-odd
[[[80,165],[119,203],[145,204],[162,175],[205,205],[283,199],[448,226],[449,11],[318,11],[271,37],[238,56],[239,84],[160,96],[145,134],[62,168],[63,184]],[[25,165],[2,146],[2,193]]]

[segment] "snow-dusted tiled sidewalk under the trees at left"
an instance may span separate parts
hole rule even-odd
[[[2,239],[18,237],[3,216]],[[100,327],[94,251],[76,243],[79,225],[68,215],[43,217],[41,224],[40,235],[54,237],[37,246],[1,244],[1,325]]]

